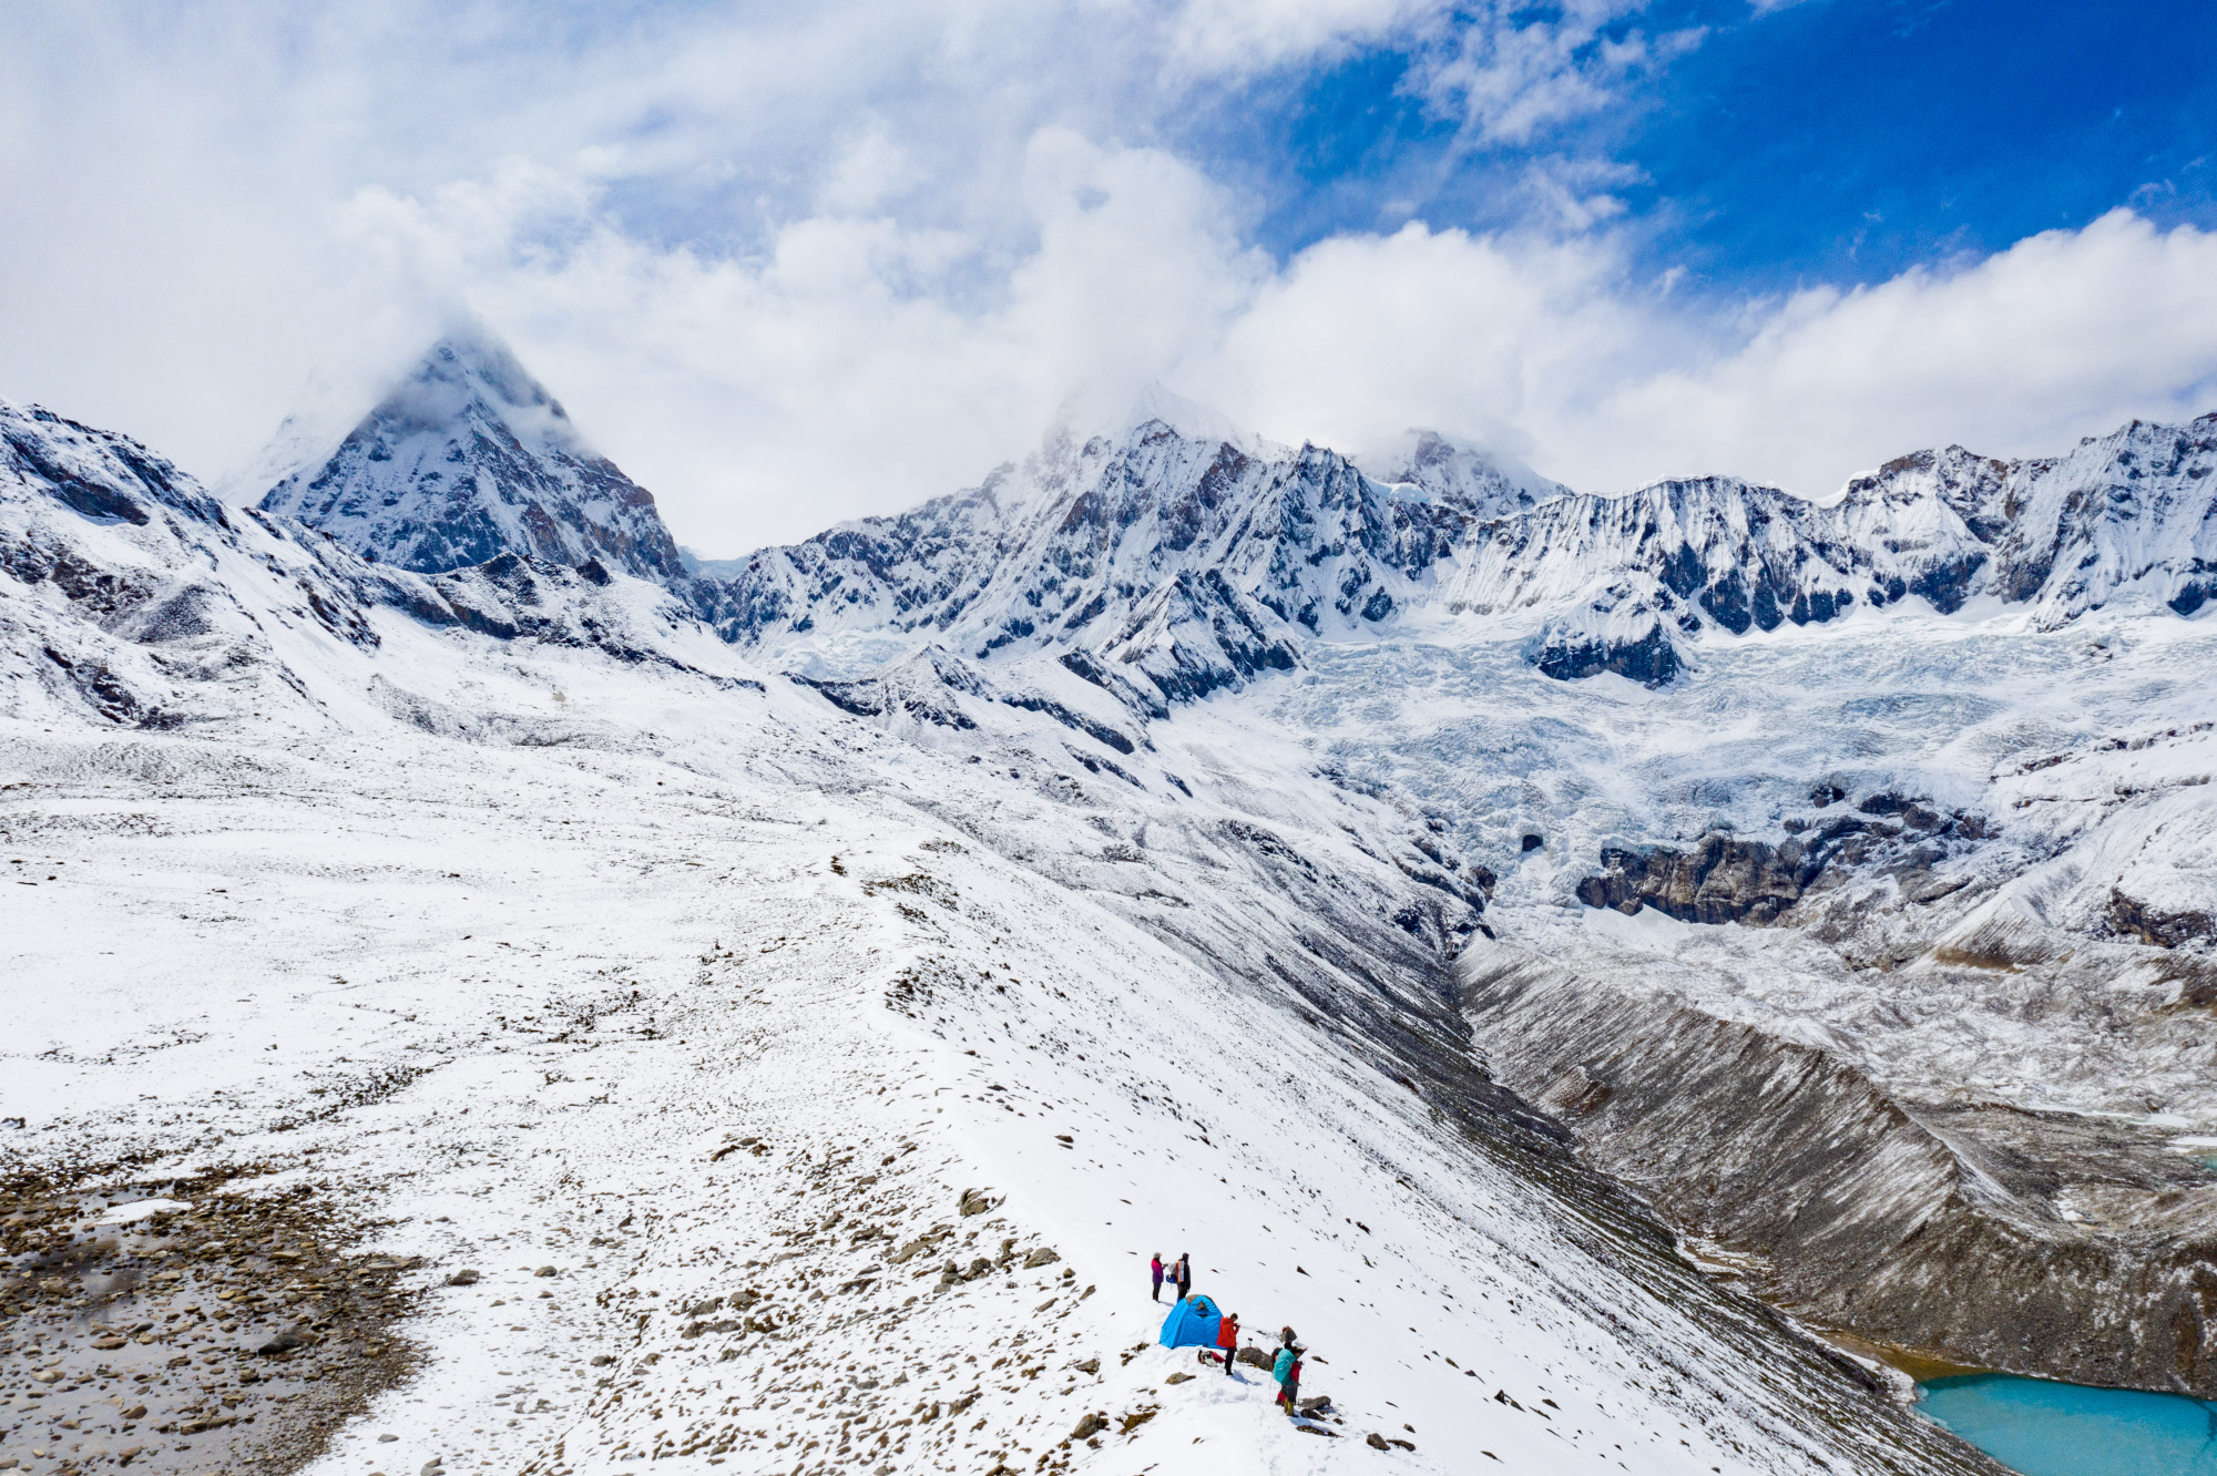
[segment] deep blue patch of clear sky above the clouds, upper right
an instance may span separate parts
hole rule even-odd
[[[1731,290],[1882,281],[2117,206],[2217,224],[2217,4],[1694,0],[1607,27],[1632,31],[1698,42],[1521,146],[1463,142],[1392,47],[1257,82],[1182,142],[1268,199],[1277,253],[1410,206],[1514,226],[1534,162],[1605,160],[1647,259]]]

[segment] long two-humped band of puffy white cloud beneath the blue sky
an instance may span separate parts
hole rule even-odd
[[[1607,237],[1408,226],[1297,257],[1210,379],[1279,437],[1428,423],[1579,488],[1734,472],[1829,496],[1922,445],[2040,454],[2217,408],[2217,235],[2117,211],[1947,273],[1687,304]]]

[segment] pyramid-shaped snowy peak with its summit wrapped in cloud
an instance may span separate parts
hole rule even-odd
[[[654,496],[477,326],[439,339],[328,461],[284,476],[262,508],[419,574],[523,554],[685,576]]]

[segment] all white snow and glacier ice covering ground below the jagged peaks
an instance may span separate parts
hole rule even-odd
[[[18,419],[67,474],[0,485],[0,1132],[129,1161],[133,1195],[268,1166],[244,1183],[324,1186],[426,1257],[419,1374],[321,1476],[1975,1469],[1598,1175],[1408,1084],[1452,1059],[1485,1099],[1452,1031],[1465,860],[1499,873],[1488,949],[1904,1095],[2217,1132],[2208,1015],[2097,926],[2113,886],[2213,895],[2208,616],[1904,598],[1709,632],[1645,689],[1539,676],[1534,612],[1412,603],[1148,705],[867,612],[807,667],[621,572],[368,565]],[[69,499],[95,483],[124,501]],[[1239,598],[1157,609],[1168,645],[1131,654]],[[900,660],[818,691],[783,654]],[[1935,862],[1978,884],[1829,940],[1576,904],[1603,844],[1778,840],[1818,780],[1993,818]],[[1920,973],[1982,929],[2099,966]],[[1259,1341],[1297,1328],[1337,1434],[1246,1372],[1173,1385],[1202,1365],[1153,1347],[1148,1252]],[[1064,1447],[1086,1414],[1111,1432]]]

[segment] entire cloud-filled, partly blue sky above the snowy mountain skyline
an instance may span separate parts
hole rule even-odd
[[[1873,224],[1822,173],[1880,126],[2035,168],[1960,109],[1687,142],[1751,106],[1687,78],[1851,4],[42,7],[0,53],[0,394],[219,476],[470,310],[709,554],[973,483],[1151,379],[1281,441],[1814,496],[2217,408],[2201,93],[2062,38],[2088,117],[2124,89],[2168,153],[2035,140],[2049,175],[1995,195],[2035,215],[1966,217],[1935,164],[1929,217]],[[1836,66],[1933,49],[1889,35]]]

